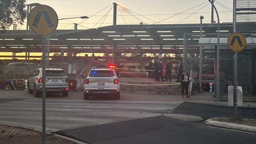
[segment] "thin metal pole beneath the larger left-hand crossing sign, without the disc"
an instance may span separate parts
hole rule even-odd
[[[46,144],[45,140],[46,140],[46,137],[45,137],[45,95],[46,95],[46,88],[45,88],[45,67],[46,67],[46,36],[43,35],[42,36],[42,42],[43,42],[43,46],[42,46],[42,53],[43,53],[43,79],[42,79],[42,82],[43,82],[43,95],[42,95],[42,98],[43,98],[43,144]]]

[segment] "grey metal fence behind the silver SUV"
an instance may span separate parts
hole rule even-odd
[[[41,64],[0,64],[0,79],[29,79],[30,74],[38,68],[41,68]],[[82,74],[87,74],[91,69],[91,66],[85,63],[49,63],[48,68],[62,68],[68,78],[76,79],[81,72]]]

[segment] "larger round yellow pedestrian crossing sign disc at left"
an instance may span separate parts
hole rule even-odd
[[[35,33],[48,35],[57,28],[58,15],[50,6],[36,6],[28,15],[28,24]]]

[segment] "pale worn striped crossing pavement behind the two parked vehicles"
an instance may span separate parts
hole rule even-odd
[[[121,94],[120,100],[106,97],[83,100],[83,92],[70,92],[67,97],[49,94],[46,131],[158,116],[159,111],[171,113],[182,102],[179,97],[150,94]],[[26,91],[1,90],[0,124],[41,130],[42,98],[35,98]]]

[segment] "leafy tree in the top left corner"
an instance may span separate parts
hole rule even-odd
[[[26,18],[26,0],[0,0],[0,30],[7,30],[12,24],[23,24]],[[15,6],[15,7],[7,7]]]

